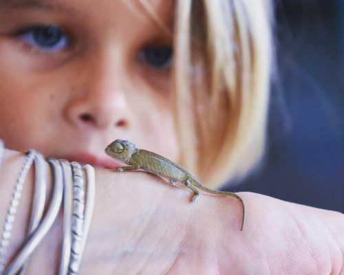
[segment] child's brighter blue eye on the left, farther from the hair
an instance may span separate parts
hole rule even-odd
[[[18,35],[29,45],[46,52],[63,50],[69,42],[65,32],[54,25],[27,28]]]

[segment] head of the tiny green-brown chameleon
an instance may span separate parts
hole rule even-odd
[[[107,153],[107,155],[125,164],[129,164],[131,155],[133,155],[135,151],[136,146],[129,142],[129,140],[115,140],[105,148],[105,153]]]

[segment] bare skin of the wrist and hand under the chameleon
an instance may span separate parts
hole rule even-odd
[[[6,151],[0,220],[23,163]],[[10,254],[23,241],[30,216],[32,173],[25,185]],[[143,172],[96,171],[96,203],[80,274],[344,274],[344,215],[240,192],[235,199],[202,195]],[[114,188],[116,186],[116,188]],[[50,188],[49,188],[50,190]],[[50,191],[49,191],[50,192]],[[34,252],[28,274],[55,274],[61,217]]]

